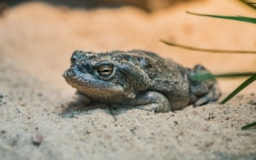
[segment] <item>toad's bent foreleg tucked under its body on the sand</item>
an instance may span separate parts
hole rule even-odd
[[[168,112],[172,108],[164,95],[158,92],[141,92],[137,93],[134,99],[129,100],[129,105],[134,108],[154,112]]]

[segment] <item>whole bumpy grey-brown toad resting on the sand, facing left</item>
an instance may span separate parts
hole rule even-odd
[[[148,51],[75,51],[63,77],[90,100],[168,112],[218,100],[220,90],[202,65],[185,68]],[[211,75],[211,74],[210,74]]]

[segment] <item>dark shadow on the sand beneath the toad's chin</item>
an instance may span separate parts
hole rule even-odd
[[[107,113],[111,116],[120,115],[134,108],[134,106],[124,106],[121,104],[106,104],[97,101],[88,103],[88,99],[83,96],[77,96],[61,104],[64,108],[59,116],[63,118],[73,118],[77,115],[90,115],[95,111]]]

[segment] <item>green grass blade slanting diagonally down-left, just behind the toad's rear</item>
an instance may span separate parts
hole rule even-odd
[[[227,102],[228,100],[232,99],[232,97],[234,97],[237,93],[239,93],[241,90],[246,88],[246,86],[248,86],[249,84],[253,83],[253,81],[256,81],[256,74],[253,74],[251,77],[246,79],[246,81],[244,81],[242,84],[240,84],[240,86],[238,86],[236,88],[236,90],[234,90],[224,100],[221,101],[221,104],[225,104],[225,102]]]

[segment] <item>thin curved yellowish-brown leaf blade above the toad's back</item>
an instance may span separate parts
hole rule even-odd
[[[164,44],[167,45],[172,45],[173,47],[180,47],[182,49],[188,49],[188,50],[192,50],[192,51],[204,51],[204,52],[217,52],[217,53],[244,53],[244,54],[252,54],[252,53],[256,53],[256,51],[230,51],[230,50],[220,50],[220,49],[202,49],[202,48],[196,48],[196,47],[191,47],[188,45],[180,45],[180,44],[174,44],[172,42],[167,42],[165,40],[160,40],[161,42],[163,42]]]

